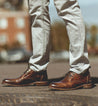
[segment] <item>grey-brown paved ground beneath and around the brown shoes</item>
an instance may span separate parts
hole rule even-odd
[[[98,58],[91,58],[92,89],[51,91],[48,86],[3,87],[4,78],[16,78],[26,69],[26,63],[0,64],[0,106],[98,106]],[[69,69],[68,62],[51,62],[48,77],[60,79]]]

